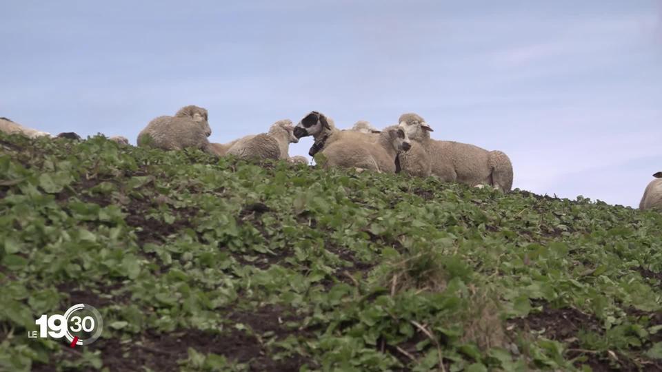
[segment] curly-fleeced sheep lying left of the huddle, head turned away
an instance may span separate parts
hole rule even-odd
[[[174,116],[154,118],[138,134],[137,143],[141,147],[165,150],[194,147],[215,155],[207,138],[210,134],[212,129],[207,110],[189,105],[182,107]]]

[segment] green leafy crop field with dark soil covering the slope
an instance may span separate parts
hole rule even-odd
[[[660,371],[662,214],[0,134],[0,370]],[[83,302],[86,347],[33,339]]]

